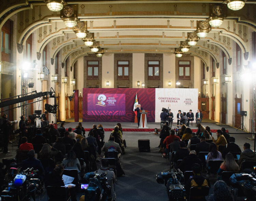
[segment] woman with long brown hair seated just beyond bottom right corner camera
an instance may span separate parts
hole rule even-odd
[[[237,165],[234,156],[232,154],[227,154],[225,157],[224,162],[219,167],[219,170],[217,172],[218,179],[221,180],[221,173],[223,171],[229,171],[229,172],[238,172],[239,166]]]

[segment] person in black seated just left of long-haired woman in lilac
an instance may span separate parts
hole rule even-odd
[[[191,171],[194,164],[199,164],[202,166],[202,161],[197,158],[196,152],[194,150],[189,152],[189,155],[183,158],[182,162],[178,168],[182,171]]]

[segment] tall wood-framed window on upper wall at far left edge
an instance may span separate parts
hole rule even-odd
[[[2,39],[2,61],[11,62],[11,20],[7,20],[1,31]]]

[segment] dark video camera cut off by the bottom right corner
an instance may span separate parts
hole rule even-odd
[[[230,177],[231,186],[241,188],[248,201],[256,200],[256,174],[232,174]]]

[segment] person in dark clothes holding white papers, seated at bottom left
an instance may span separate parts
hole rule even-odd
[[[64,167],[61,164],[56,165],[53,173],[46,175],[45,181],[44,181],[45,186],[55,186],[55,187],[65,186],[62,180],[63,170],[64,170]],[[71,185],[68,185],[67,189],[69,189],[71,200],[76,201],[75,188],[72,187]],[[68,194],[68,191],[67,191],[67,194]]]

